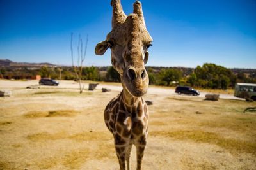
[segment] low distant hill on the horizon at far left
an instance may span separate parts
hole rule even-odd
[[[42,62],[42,63],[29,63],[29,62],[13,62],[12,60],[8,59],[0,59],[0,67],[42,67],[42,66],[48,66],[48,67],[57,67],[58,65],[51,64],[48,62]]]

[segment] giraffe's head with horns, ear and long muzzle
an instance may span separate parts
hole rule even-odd
[[[105,41],[97,44],[95,53],[103,55],[111,50],[111,62],[120,74],[123,87],[134,97],[143,96],[148,89],[148,74],[145,64],[152,38],[148,33],[141,3],[133,4],[134,10],[125,15],[120,0],[112,0],[112,30]]]

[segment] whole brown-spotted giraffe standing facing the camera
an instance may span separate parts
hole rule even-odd
[[[104,111],[104,120],[115,140],[115,150],[121,170],[130,169],[132,145],[136,146],[137,169],[148,136],[148,108],[142,96],[148,89],[145,69],[152,38],[148,33],[140,1],[133,4],[133,13],[125,15],[120,0],[112,0],[112,30],[106,40],[95,47],[96,55],[111,50],[111,63],[120,74],[123,90],[112,99]]]

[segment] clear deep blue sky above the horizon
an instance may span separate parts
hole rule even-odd
[[[126,14],[132,3],[122,0]],[[147,66],[256,68],[255,0],[141,3],[154,39]],[[110,0],[0,0],[0,59],[70,65],[74,32],[74,41],[88,34],[86,66],[110,66],[109,50],[94,48],[111,31],[111,10]]]

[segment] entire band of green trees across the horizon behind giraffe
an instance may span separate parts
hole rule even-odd
[[[186,71],[182,68],[164,68],[154,69],[147,67],[150,85],[177,86],[188,85],[191,87],[200,87],[207,89],[228,89],[233,88],[237,82],[256,83],[256,73],[233,73],[231,69],[216,64],[206,63],[203,66],[197,66],[192,71]],[[40,67],[39,69],[29,69],[22,67],[15,71],[12,69],[1,68],[1,74],[9,78],[28,78],[36,74],[42,77],[62,80],[76,80],[76,74],[72,67]],[[113,69],[107,70],[98,67],[83,67],[81,80],[120,82],[120,76]]]

